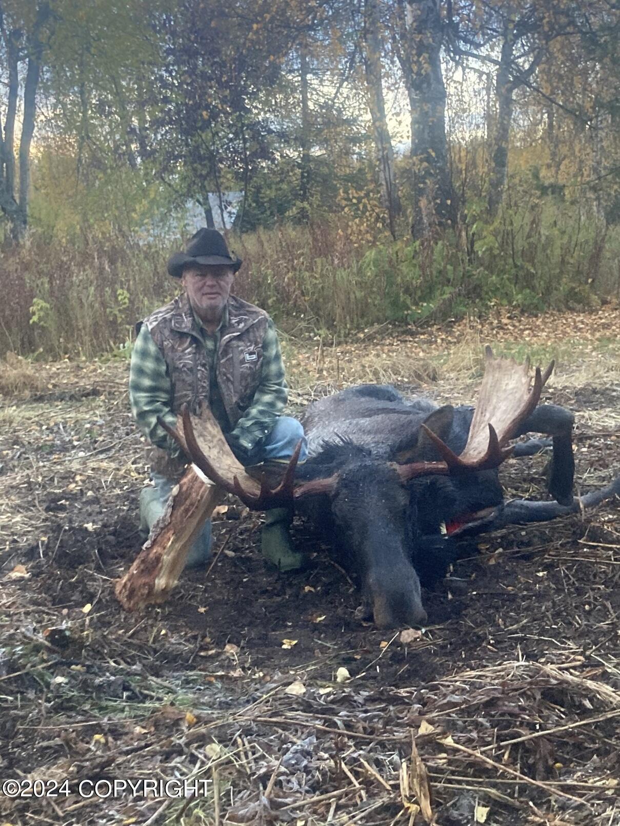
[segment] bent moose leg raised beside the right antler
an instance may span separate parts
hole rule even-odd
[[[575,457],[573,456],[573,424],[575,416],[558,405],[539,405],[523,422],[517,435],[544,433],[553,439],[553,455],[548,488],[560,505],[573,501]]]

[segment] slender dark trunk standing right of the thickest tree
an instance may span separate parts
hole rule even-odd
[[[497,112],[491,129],[489,195],[487,197],[487,205],[491,216],[494,216],[498,211],[508,178],[508,143],[510,123],[513,120],[513,93],[515,88],[510,72],[514,45],[514,24],[511,21],[504,32],[502,54],[499,59],[500,65],[495,79]]]

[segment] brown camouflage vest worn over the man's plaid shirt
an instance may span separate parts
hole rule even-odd
[[[252,403],[260,384],[262,343],[269,316],[259,307],[231,296],[228,324],[220,330],[216,355],[216,378],[231,427],[235,427]],[[145,324],[160,349],[172,384],[172,410],[184,404],[198,413],[209,401],[209,358],[193,317],[188,297],[183,294],[147,316]],[[138,325],[138,329],[141,325]],[[178,477],[181,463],[171,460],[165,450],[154,448],[151,468],[167,477]]]

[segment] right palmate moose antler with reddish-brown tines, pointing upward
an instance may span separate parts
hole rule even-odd
[[[403,482],[423,473],[498,468],[513,453],[513,448],[506,445],[540,401],[542,388],[551,376],[554,362],[544,373],[541,373],[541,368],[536,368],[534,385],[530,387],[529,358],[523,364],[518,364],[513,358],[496,358],[490,347],[485,348],[484,354],[484,377],[465,449],[457,456],[439,436],[421,425],[443,462],[398,465],[396,471]]]

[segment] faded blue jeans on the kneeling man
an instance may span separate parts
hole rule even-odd
[[[302,439],[303,442],[301,453],[299,453],[299,461],[305,462],[308,458],[308,449],[306,437],[303,435],[303,427],[297,419],[283,415],[279,417],[274,429],[257,449],[239,458],[246,466],[260,464],[261,462],[288,463],[299,439]],[[143,487],[140,491],[140,529],[145,539],[150,529],[155,525],[155,521],[164,513],[166,502],[174,487],[174,482],[170,482],[167,477],[160,473],[153,473],[151,479],[154,487]],[[211,545],[211,520],[207,520],[204,523],[202,532],[198,534],[198,538],[189,549],[185,567],[200,567],[207,563],[211,556]]]

